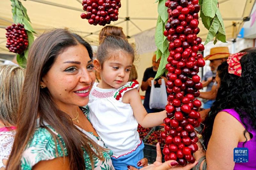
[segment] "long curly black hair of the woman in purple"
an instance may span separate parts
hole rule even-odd
[[[244,136],[248,131],[248,125],[256,129],[256,50],[242,56],[240,63],[242,77],[229,74],[227,62],[223,62],[218,67],[220,87],[211,111],[205,119],[202,133],[206,147],[212,135],[214,119],[223,109],[234,108],[239,114],[245,126]],[[244,120],[247,120],[249,124],[244,123]]]

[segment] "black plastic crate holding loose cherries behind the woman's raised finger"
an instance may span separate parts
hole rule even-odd
[[[151,133],[153,133],[154,131],[163,128],[163,126],[156,126],[154,127],[152,130],[150,130],[150,132],[148,133],[148,135],[143,139],[144,142],[144,158],[148,159],[148,163],[152,164],[156,161],[156,145],[152,145],[152,144],[147,144],[145,143],[145,141],[147,140],[147,138],[150,136]],[[161,147],[161,151],[163,151],[163,147]],[[164,154],[162,152],[162,162],[164,162]]]

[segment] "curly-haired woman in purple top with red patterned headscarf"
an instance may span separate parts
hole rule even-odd
[[[200,169],[256,168],[256,51],[236,53],[218,67],[218,92],[205,119],[201,147],[195,153]],[[199,143],[200,144],[200,143]],[[249,160],[236,163],[234,148],[246,147]],[[204,150],[206,149],[206,151]],[[246,162],[248,161],[248,162]],[[245,162],[245,163],[244,163]]]

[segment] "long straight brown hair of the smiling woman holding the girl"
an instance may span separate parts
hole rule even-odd
[[[103,160],[102,151],[104,149],[73,125],[68,114],[62,112],[53,102],[47,88],[39,88],[41,78],[51,69],[56,57],[66,48],[78,44],[84,45],[92,59],[90,44],[79,35],[64,29],[43,33],[32,44],[28,54],[27,71],[18,110],[17,132],[7,163],[8,169],[20,169],[20,159],[37,128],[38,117],[40,118],[39,126],[48,129],[55,139],[56,147],[56,142],[60,139],[45,126],[44,122],[51,125],[63,138],[68,151],[70,169],[85,169],[83,148],[90,157],[92,168],[94,167],[93,156]],[[61,143],[59,142],[59,144]],[[93,151],[92,147],[96,149],[96,152]],[[63,146],[61,149],[64,153]]]

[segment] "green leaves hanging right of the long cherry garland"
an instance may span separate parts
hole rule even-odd
[[[226,42],[226,31],[223,19],[218,8],[218,0],[199,0],[201,6],[200,18],[204,27],[209,30],[204,45],[213,41],[216,44],[217,40]]]

